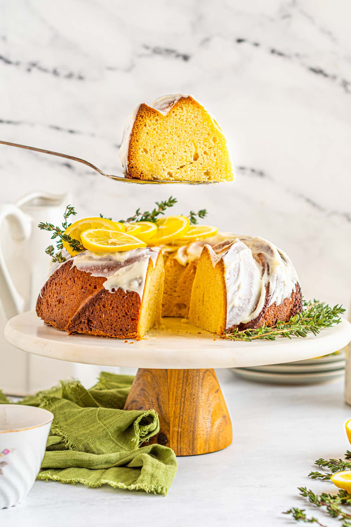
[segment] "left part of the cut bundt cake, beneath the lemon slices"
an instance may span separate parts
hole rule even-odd
[[[141,338],[161,321],[164,271],[158,248],[84,251],[52,271],[36,312],[58,329]]]

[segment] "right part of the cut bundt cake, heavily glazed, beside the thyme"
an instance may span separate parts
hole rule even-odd
[[[262,238],[204,245],[193,281],[189,320],[218,335],[273,326],[302,311],[298,277],[288,256]]]

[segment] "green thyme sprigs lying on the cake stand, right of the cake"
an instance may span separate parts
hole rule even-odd
[[[330,307],[324,302],[318,300],[303,301],[304,309],[291,317],[288,322],[277,320],[275,326],[268,327],[265,324],[258,329],[237,328],[225,333],[221,338],[231,340],[275,340],[277,337],[306,337],[308,333],[317,335],[321,329],[339,324],[341,322],[339,315],[345,313],[342,306]]]

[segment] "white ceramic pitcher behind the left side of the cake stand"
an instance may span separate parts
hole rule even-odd
[[[89,387],[99,366],[63,362],[29,355],[4,338],[7,320],[35,309],[38,294],[48,274],[51,233],[38,229],[41,221],[61,225],[67,194],[32,192],[16,203],[0,205],[0,388],[11,395],[26,395],[76,377]],[[118,372],[119,368],[104,368]]]

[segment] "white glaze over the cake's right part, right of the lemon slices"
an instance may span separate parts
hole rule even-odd
[[[264,238],[218,232],[216,236],[189,243],[176,249],[173,258],[181,265],[198,262],[203,246],[210,251],[212,264],[220,259],[225,265],[227,288],[227,328],[255,319],[265,304],[269,285],[268,307],[280,305],[296,291],[299,282],[295,267],[284,251]],[[172,246],[162,248],[165,256]]]

